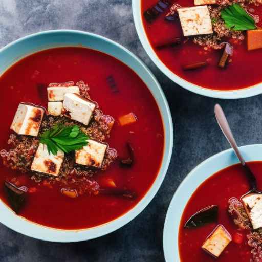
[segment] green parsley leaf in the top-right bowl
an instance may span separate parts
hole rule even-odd
[[[255,29],[255,20],[239,4],[233,4],[221,11],[226,27],[235,31]]]

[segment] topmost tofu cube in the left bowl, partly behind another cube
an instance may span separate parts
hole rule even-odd
[[[79,93],[78,86],[51,86],[47,88],[48,101],[63,101],[64,95],[68,93]]]

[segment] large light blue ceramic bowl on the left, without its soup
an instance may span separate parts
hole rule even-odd
[[[118,43],[107,38],[91,33],[72,30],[46,31],[23,37],[0,50],[0,75],[3,74],[3,72],[5,72],[12,64],[25,56],[40,50],[65,46],[81,46],[99,50],[116,57],[128,65],[129,68],[133,69],[145,82],[157,101],[164,123],[165,145],[163,162],[157,179],[145,197],[132,210],[128,211],[121,217],[118,217],[118,219],[101,226],[84,230],[58,230],[43,227],[15,215],[2,201],[0,201],[1,223],[19,233],[54,242],[76,242],[96,238],[117,230],[133,220],[149,204],[152,198],[154,198],[161,186],[167,172],[173,147],[173,125],[171,114],[158,81],[145,64],[134,54],[120,46]]]

